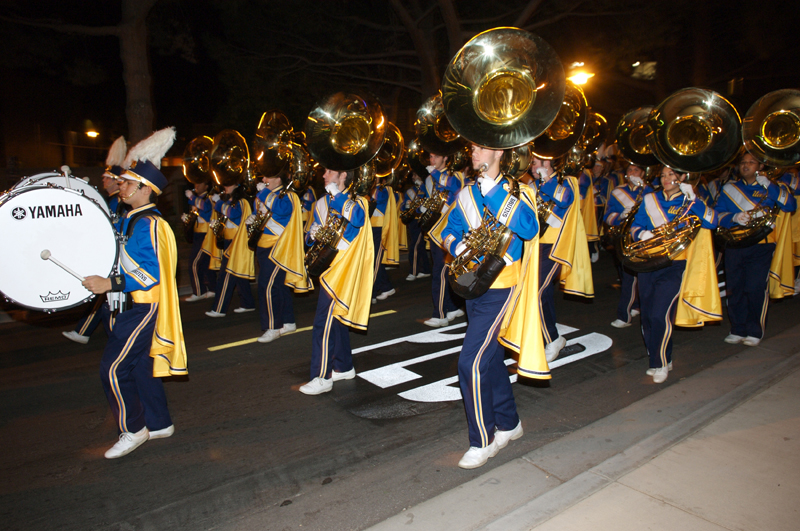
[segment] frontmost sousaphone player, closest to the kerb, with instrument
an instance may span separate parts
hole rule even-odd
[[[500,161],[504,149],[527,144],[547,129],[561,106],[564,84],[552,48],[516,28],[470,40],[450,62],[442,84],[447,118],[474,144],[472,165],[479,171],[431,230],[432,243],[452,254],[453,264],[463,265],[451,266],[453,280],[468,297],[469,324],[458,361],[470,444],[458,463],[462,468],[484,465],[522,436],[504,346],[520,353],[520,375],[550,377],[537,303],[536,192],[504,175]]]

